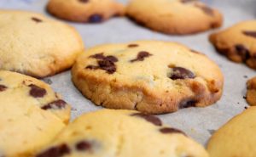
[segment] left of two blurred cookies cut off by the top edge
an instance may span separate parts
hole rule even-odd
[[[114,0],[49,0],[47,10],[63,20],[98,23],[123,15],[125,8]]]

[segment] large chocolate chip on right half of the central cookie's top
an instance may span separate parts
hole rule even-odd
[[[177,80],[177,79],[190,79],[190,78],[195,78],[195,74],[182,67],[174,67],[172,68],[172,74],[169,76],[172,80]]]

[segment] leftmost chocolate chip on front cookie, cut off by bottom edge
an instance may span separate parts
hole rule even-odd
[[[43,153],[36,155],[36,157],[61,157],[70,154],[70,152],[67,144],[61,144],[60,146],[50,148]]]

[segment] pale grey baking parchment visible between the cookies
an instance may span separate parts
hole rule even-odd
[[[120,2],[127,3],[127,0],[120,0]],[[224,14],[222,29],[241,20],[253,20],[256,17],[256,0],[205,0],[203,2],[218,8]],[[46,3],[46,0],[0,0],[0,8],[32,10],[54,18],[46,13]],[[244,64],[231,62],[214,50],[212,44],[208,42],[208,35],[217,30],[189,36],[170,36],[150,31],[125,17],[114,18],[102,24],[68,23],[79,31],[86,48],[103,43],[154,39],[183,43],[191,49],[207,54],[214,60],[224,73],[223,97],[216,104],[205,108],[180,109],[175,113],[158,115],[166,124],[183,130],[199,143],[205,145],[212,132],[234,115],[241,113],[247,106],[243,98],[246,93],[246,81],[256,76],[256,73]],[[56,92],[61,93],[69,104],[72,104],[72,120],[83,113],[102,109],[84,98],[73,86],[70,70],[45,78],[44,81],[48,82]]]

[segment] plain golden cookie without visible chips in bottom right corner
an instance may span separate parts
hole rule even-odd
[[[256,156],[256,107],[236,115],[215,132],[207,150],[211,157]]]

